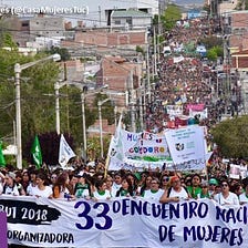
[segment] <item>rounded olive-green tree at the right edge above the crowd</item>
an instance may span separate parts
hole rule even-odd
[[[223,156],[248,157],[248,116],[223,121],[211,128],[211,134]]]

